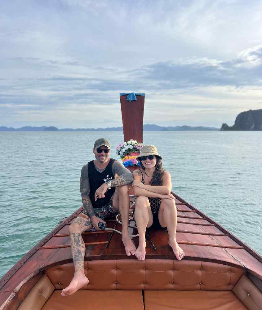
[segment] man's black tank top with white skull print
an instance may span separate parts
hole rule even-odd
[[[97,190],[97,188],[99,188],[105,182],[105,180],[113,180],[115,178],[112,172],[112,165],[114,161],[115,159],[111,158],[109,164],[106,166],[103,172],[98,172],[95,169],[95,164],[93,160],[91,162],[88,162],[88,179],[90,184],[89,197],[94,208],[100,208],[106,205],[112,197],[113,193],[115,192],[115,188],[112,187],[105,193],[104,198],[100,198],[95,201],[95,191]]]

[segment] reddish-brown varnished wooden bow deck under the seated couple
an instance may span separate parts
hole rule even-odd
[[[262,279],[262,257],[240,241],[237,237],[222,228],[201,211],[175,196],[178,211],[176,239],[184,249],[186,260],[201,260],[214,263],[225,263],[246,271]],[[82,212],[79,208],[64,222],[60,223],[49,235],[30,250],[0,281],[0,305],[15,294],[20,287],[43,270],[63,263],[72,262],[68,228],[73,219]],[[106,221],[108,228],[122,229],[116,219]],[[131,221],[131,225],[135,225]],[[137,234],[136,228],[129,228],[130,234]],[[164,229],[147,230],[153,244],[147,240],[146,259],[176,259],[168,246],[168,234]],[[136,259],[127,257],[121,241],[121,235],[109,230],[84,232],[86,243],[85,260],[101,259]],[[138,246],[138,237],[133,239]],[[33,281],[33,280],[32,280]]]

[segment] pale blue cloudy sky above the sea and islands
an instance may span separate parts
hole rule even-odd
[[[262,108],[262,1],[0,2],[0,126],[234,124]]]

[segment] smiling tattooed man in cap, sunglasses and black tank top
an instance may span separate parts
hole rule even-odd
[[[96,140],[93,153],[95,160],[88,162],[81,170],[80,191],[85,210],[69,226],[75,274],[69,286],[62,290],[62,296],[72,295],[82,286],[87,285],[88,279],[84,274],[86,247],[81,234],[92,227],[95,230],[101,230],[98,225],[100,222],[105,223],[106,217],[121,213],[122,241],[127,256],[135,254],[135,246],[128,232],[127,184],[132,183],[133,175],[121,162],[109,158],[110,144],[107,139]]]

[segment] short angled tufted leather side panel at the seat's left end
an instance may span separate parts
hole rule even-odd
[[[53,293],[55,287],[44,274],[21,303],[18,310],[40,310]]]

